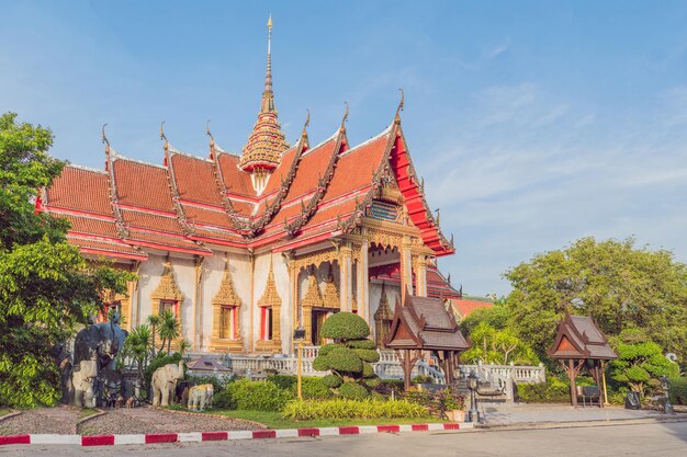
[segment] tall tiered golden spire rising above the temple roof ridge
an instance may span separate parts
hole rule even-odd
[[[252,127],[252,133],[248,137],[248,142],[244,146],[240,168],[244,171],[256,172],[257,176],[254,186],[256,190],[263,188],[264,176],[274,170],[280,161],[281,155],[289,149],[281,124],[277,119],[277,107],[274,106],[274,92],[272,91],[272,16],[267,23],[267,71],[264,73],[264,90],[258,121]]]

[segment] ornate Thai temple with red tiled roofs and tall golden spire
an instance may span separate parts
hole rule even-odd
[[[454,253],[439,228],[404,137],[403,98],[391,124],[349,144],[348,110],[312,145],[305,122],[290,145],[272,90],[268,23],[264,90],[240,155],[207,129],[196,157],[164,140],[160,164],[104,141],[104,170],[67,165],[36,210],[71,224],[68,240],[91,258],[137,273],[128,294],[108,298],[125,328],[164,310],[198,352],[291,353],[334,312],[364,318],[378,342],[410,296],[460,298],[437,267]],[[391,113],[390,113],[391,114]]]

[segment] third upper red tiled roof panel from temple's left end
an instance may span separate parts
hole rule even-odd
[[[215,181],[211,161],[184,155],[171,155],[177,190],[183,199],[222,205],[222,194]]]

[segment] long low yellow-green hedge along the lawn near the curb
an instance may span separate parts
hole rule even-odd
[[[421,419],[428,410],[406,400],[295,400],[286,404],[283,416],[295,421],[322,419]]]

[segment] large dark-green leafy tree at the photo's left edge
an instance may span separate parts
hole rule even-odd
[[[66,240],[68,222],[32,201],[64,162],[47,155],[49,129],[0,116],[0,404],[52,404],[60,396],[54,347],[104,310],[105,289],[131,275],[87,262]]]

